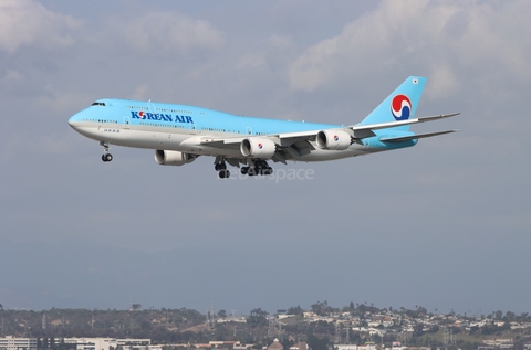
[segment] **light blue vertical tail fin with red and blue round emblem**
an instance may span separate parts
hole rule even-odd
[[[425,77],[409,76],[358,125],[414,118],[425,84]],[[395,128],[399,130],[408,130],[409,125]]]

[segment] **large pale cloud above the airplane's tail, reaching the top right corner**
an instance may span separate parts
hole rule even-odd
[[[384,1],[340,35],[303,52],[290,68],[291,89],[313,92],[397,73],[434,76],[444,84],[444,95],[458,93],[459,82],[470,76],[493,84],[503,78],[500,71],[524,83],[531,77],[531,22],[525,18],[531,2],[503,4]]]

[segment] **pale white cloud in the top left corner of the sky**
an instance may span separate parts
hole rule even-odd
[[[53,13],[31,0],[3,0],[0,3],[0,50],[15,52],[21,45],[45,49],[71,45],[70,31],[81,26],[71,15]]]

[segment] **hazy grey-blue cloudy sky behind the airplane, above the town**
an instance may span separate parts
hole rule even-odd
[[[0,304],[531,311],[531,2],[0,1]],[[163,167],[67,119],[97,98],[356,124],[428,78],[414,148]]]

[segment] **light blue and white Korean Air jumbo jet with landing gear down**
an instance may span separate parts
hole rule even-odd
[[[102,160],[111,145],[155,150],[163,166],[184,166],[200,156],[215,157],[221,179],[227,163],[247,176],[273,173],[269,161],[325,161],[415,146],[428,134],[409,131],[417,123],[459,115],[414,118],[427,78],[409,76],[367,117],[355,125],[315,124],[243,117],[186,105],[131,99],[97,99],[69,119],[81,135],[100,141]]]

